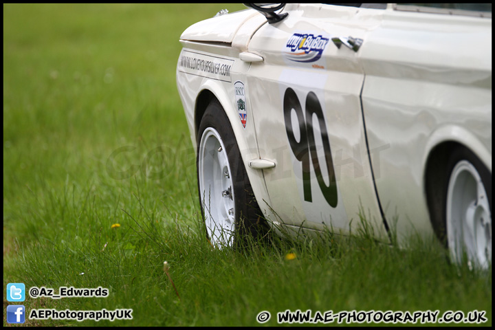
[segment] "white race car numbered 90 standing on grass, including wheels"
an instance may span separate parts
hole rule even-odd
[[[210,241],[362,216],[489,267],[492,5],[247,5],[180,38]]]

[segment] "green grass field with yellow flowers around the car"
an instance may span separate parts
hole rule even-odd
[[[3,325],[8,283],[110,292],[28,296],[28,313],[133,309],[32,326],[245,326],[261,311],[277,325],[287,309],[477,309],[492,325],[491,270],[450,265],[434,242],[327,233],[211,248],[175,66],[181,32],[222,8],[244,7],[3,5]]]

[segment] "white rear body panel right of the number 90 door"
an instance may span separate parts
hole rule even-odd
[[[387,10],[360,56],[369,147],[390,145],[373,167],[386,218],[397,217],[399,240],[432,234],[424,190],[432,148],[470,141],[478,155],[492,151],[491,19]]]

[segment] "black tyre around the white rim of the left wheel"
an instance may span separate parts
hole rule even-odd
[[[232,245],[244,245],[250,241],[250,237],[258,240],[266,234],[268,226],[265,219],[263,219],[263,213],[258,206],[256,198],[254,197],[254,192],[252,190],[248,174],[246,173],[243,159],[241,158],[241,153],[239,152],[239,146],[237,146],[236,137],[234,135],[234,131],[232,131],[232,126],[230,125],[223,107],[216,99],[212,100],[212,102],[208,104],[208,107],[201,118],[197,133],[197,181],[199,202],[201,204],[201,215],[203,217],[203,223],[205,224],[206,236],[209,240],[211,240],[211,237],[208,234],[208,228],[206,228],[205,211],[208,212],[208,208],[207,210],[204,210],[203,208],[203,206],[206,206],[208,197],[206,197],[207,194],[204,194],[201,191],[199,152],[201,137],[203,136],[203,132],[208,128],[214,129],[219,133],[223,146],[225,146],[228,163],[230,165],[229,174],[230,177],[232,177],[232,192],[234,195],[235,205],[235,223]],[[205,174],[208,175],[208,173]],[[203,195],[205,196],[205,201],[203,201]]]

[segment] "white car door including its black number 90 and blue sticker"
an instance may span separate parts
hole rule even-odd
[[[264,58],[263,63],[252,63],[247,85],[260,157],[276,163],[263,170],[270,208],[288,224],[326,225],[340,232],[349,232],[351,219],[354,226],[359,214],[366,214],[377,236],[385,237],[360,104],[364,73],[356,52],[331,42],[332,36],[364,38],[380,19],[366,10],[315,7],[308,5],[308,10],[292,11],[281,23],[263,25],[248,46]],[[316,48],[327,39],[320,57],[318,52],[303,54],[303,39],[313,40]],[[294,61],[296,53],[302,61]],[[297,104],[286,109],[289,89],[300,110]],[[285,111],[291,114],[285,117]],[[308,131],[312,134],[304,156],[297,151]]]

